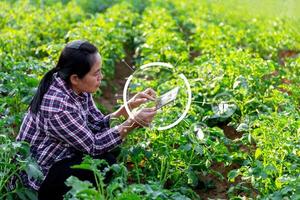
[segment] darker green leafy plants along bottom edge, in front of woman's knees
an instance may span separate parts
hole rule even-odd
[[[86,156],[83,162],[73,166],[77,169],[91,170],[96,178],[96,187],[88,181],[80,181],[78,178],[71,176],[67,179],[66,184],[71,187],[70,191],[65,195],[65,199],[190,199],[184,194],[193,192],[181,188],[179,192],[172,192],[164,189],[160,183],[149,181],[148,184],[127,184],[128,171],[122,164],[113,164],[104,169],[103,165],[107,166],[106,161],[92,159]],[[108,171],[113,171],[114,178],[109,185],[106,185],[103,180]]]

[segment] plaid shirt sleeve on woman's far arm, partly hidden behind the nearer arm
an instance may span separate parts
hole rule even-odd
[[[88,97],[88,122],[93,131],[101,131],[110,127],[110,115],[103,115],[89,94]]]

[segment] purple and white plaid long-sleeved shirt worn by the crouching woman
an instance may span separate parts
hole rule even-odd
[[[30,143],[31,154],[45,177],[55,162],[76,151],[100,155],[122,142],[118,127],[109,128],[110,116],[96,108],[91,94],[77,95],[57,73],[53,76],[39,112],[26,114],[17,136],[18,141]],[[26,174],[23,182],[35,190],[42,183]]]

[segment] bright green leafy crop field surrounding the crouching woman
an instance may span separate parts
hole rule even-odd
[[[192,103],[171,129],[130,133],[119,163],[107,166],[110,183],[97,170],[105,163],[87,157],[77,167],[95,172],[97,188],[71,177],[65,199],[300,199],[299,1],[2,0],[0,8],[0,199],[37,198],[18,178],[7,187],[22,170],[40,176],[15,137],[43,74],[83,38],[103,57],[94,95],[103,113],[122,104],[132,73],[123,61],[136,70],[172,64]],[[164,75],[130,88],[178,84]],[[174,121],[186,99],[155,123]]]

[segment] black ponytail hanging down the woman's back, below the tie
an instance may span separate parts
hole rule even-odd
[[[43,100],[43,96],[48,91],[48,89],[52,83],[53,74],[57,71],[58,70],[55,67],[55,68],[51,69],[50,71],[48,71],[42,78],[42,80],[39,84],[39,87],[36,91],[36,94],[34,95],[32,101],[30,102],[30,111],[32,113],[34,113],[34,114],[38,113],[39,107]]]

